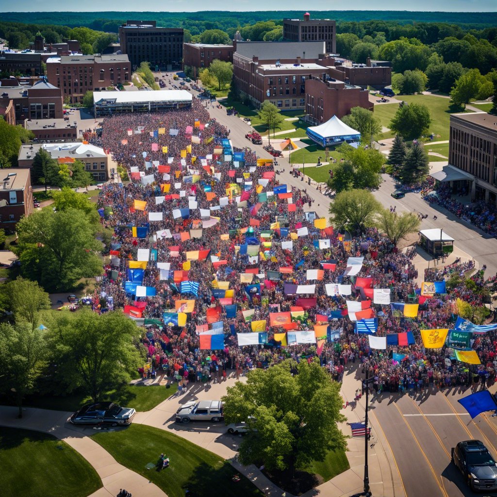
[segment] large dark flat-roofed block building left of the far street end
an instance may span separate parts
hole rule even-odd
[[[181,67],[183,28],[157,27],[156,21],[126,21],[119,26],[119,43],[133,69],[144,61],[152,70],[155,66],[167,71]]]

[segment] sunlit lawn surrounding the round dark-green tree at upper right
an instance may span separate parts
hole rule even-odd
[[[429,132],[440,135],[439,137],[435,137],[436,141],[449,139],[450,114],[453,113],[453,109],[449,108],[450,101],[448,98],[433,95],[399,95],[397,98],[408,103],[421,103],[426,105],[432,119]],[[398,108],[399,105],[395,103],[378,104],[374,106],[374,115],[380,119],[383,126],[389,128],[390,121]],[[384,133],[383,138],[389,138],[389,136]]]

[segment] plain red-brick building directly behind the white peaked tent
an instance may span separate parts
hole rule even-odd
[[[310,78],[305,82],[305,110],[308,122],[321,124],[331,117],[338,118],[350,112],[352,107],[373,110],[369,92],[360,86],[325,78]]]

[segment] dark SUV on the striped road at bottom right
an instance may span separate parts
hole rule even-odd
[[[497,490],[496,461],[480,440],[459,442],[452,449],[452,461],[471,490]]]

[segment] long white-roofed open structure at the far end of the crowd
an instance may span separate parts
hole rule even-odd
[[[123,112],[157,112],[190,107],[192,95],[186,90],[95,91],[96,116]]]

